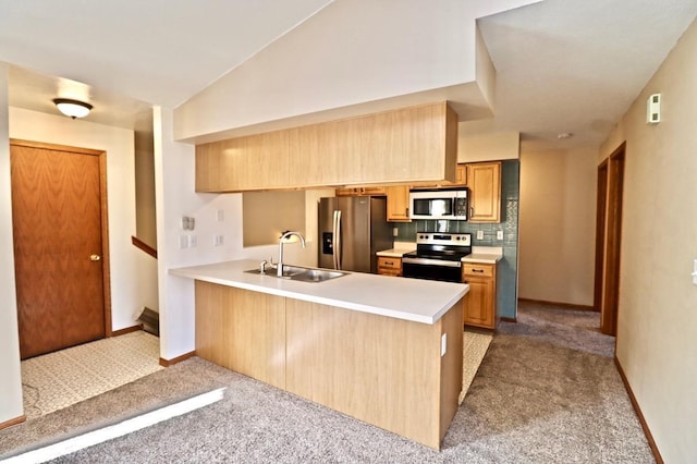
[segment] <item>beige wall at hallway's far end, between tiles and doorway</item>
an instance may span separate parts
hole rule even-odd
[[[521,298],[592,306],[596,172],[596,149],[521,155]]]

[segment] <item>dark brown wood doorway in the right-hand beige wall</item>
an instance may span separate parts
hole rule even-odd
[[[622,144],[598,167],[594,305],[600,312],[600,331],[613,337],[617,333],[620,304],[624,162]]]

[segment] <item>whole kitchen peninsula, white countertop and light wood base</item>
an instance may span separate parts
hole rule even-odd
[[[359,272],[319,282],[255,260],[170,269],[196,285],[196,354],[439,449],[462,389],[466,284]]]

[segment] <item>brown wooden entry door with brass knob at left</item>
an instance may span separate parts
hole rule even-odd
[[[21,356],[101,339],[105,154],[21,141],[10,152]]]

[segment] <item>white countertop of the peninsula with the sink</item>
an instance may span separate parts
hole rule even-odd
[[[175,268],[170,269],[169,273],[423,323],[438,321],[469,291],[469,285],[465,283],[363,272],[347,272],[346,276],[323,282],[301,282],[244,272],[258,266],[257,260],[243,259]]]

